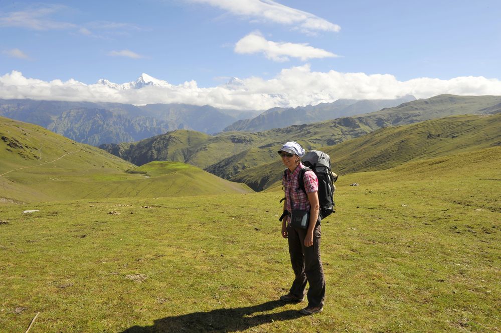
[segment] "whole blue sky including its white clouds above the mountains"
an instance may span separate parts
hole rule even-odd
[[[498,0],[0,0],[0,98],[266,109],[501,95],[499,18]],[[141,73],[170,86],[95,85]]]

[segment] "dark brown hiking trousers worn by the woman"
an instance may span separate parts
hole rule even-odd
[[[313,229],[313,245],[304,246],[306,229],[296,229],[287,226],[289,254],[295,278],[290,287],[290,293],[302,298],[306,281],[309,283],[308,306],[323,306],[325,298],[325,276],[320,259],[320,223]]]

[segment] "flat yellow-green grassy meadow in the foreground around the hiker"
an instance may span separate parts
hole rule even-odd
[[[500,155],[341,178],[312,317],[276,301],[292,278],[279,193],[0,206],[0,327],[40,311],[41,332],[498,331]]]

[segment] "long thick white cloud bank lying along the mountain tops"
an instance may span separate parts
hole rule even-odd
[[[312,72],[309,65],[283,69],[270,80],[258,77],[238,80],[238,84],[211,88],[190,81],[175,85],[146,86],[140,89],[113,89],[103,84],[87,85],[76,80],[42,81],[25,78],[12,71],[0,76],[0,98],[130,104],[185,103],[212,105],[240,110],[266,110],[329,103],[340,98],[391,99],[405,95],[429,98],[439,94],[500,95],[501,81],[484,77],[450,80],[417,78],[398,81],[393,75]]]

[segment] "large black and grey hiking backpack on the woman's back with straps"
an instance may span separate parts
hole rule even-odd
[[[338,175],[332,173],[330,169],[330,157],[324,152],[319,150],[311,150],[304,154],[302,163],[305,168],[299,171],[299,188],[306,193],[304,189],[304,173],[311,170],[318,178],[318,201],[320,203],[319,215],[321,219],[335,213],[336,203],[334,202],[334,193],[336,192],[336,185],[334,183],[338,180]]]

